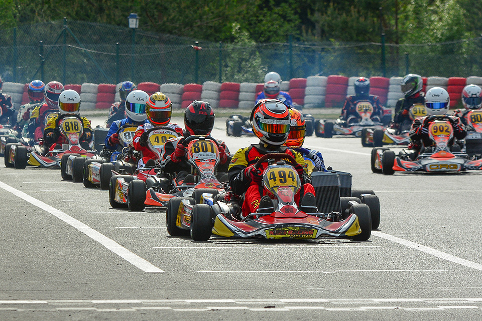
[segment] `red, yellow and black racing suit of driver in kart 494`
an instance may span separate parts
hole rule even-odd
[[[315,195],[315,190],[306,175],[305,168],[307,164],[303,156],[286,146],[274,146],[274,149],[267,148],[266,145],[252,144],[249,147],[241,148],[232,156],[231,163],[229,164],[229,170],[227,176],[229,178],[229,185],[232,192],[237,195],[244,194],[244,202],[242,205],[242,213],[244,216],[255,213],[260,206],[261,197],[267,195],[267,191],[263,188],[262,178],[258,181],[254,181],[250,177],[246,177],[245,169],[254,166],[258,159],[267,153],[286,153],[292,155],[295,158],[295,169],[298,172],[301,180],[301,188],[295,194],[295,202],[300,204],[300,196],[304,196],[306,193],[312,193]],[[263,173],[267,167],[267,163],[261,164],[260,171]],[[300,175],[301,174],[301,175]]]

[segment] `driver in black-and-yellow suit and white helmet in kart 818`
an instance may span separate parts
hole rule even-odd
[[[62,148],[67,139],[60,134],[59,123],[66,117],[76,117],[83,124],[83,134],[79,137],[82,148],[90,150],[89,143],[92,140],[92,128],[90,121],[85,117],[80,117],[80,96],[75,90],[64,90],[59,97],[59,115],[52,116],[44,130],[44,142],[49,150]]]

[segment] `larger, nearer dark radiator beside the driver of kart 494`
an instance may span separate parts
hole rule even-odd
[[[316,193],[316,206],[321,213],[341,212],[340,177],[338,173],[311,173],[311,182]]]

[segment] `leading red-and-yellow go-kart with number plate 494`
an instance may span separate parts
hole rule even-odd
[[[301,187],[298,173],[293,168],[296,164],[294,158],[287,154],[266,154],[255,167],[261,168],[261,164],[269,162],[269,159],[273,163],[263,172],[263,186],[276,197],[273,212],[241,213],[241,200],[230,191],[220,195],[205,193],[201,204],[192,198],[174,198],[167,206],[168,233],[173,236],[190,233],[195,241],[207,241],[211,233],[223,237],[266,239],[314,239],[320,236],[351,237],[353,240],[370,238],[370,207],[359,204],[355,198],[340,198],[337,174],[320,173],[320,180],[330,178],[337,185],[334,195],[318,197],[327,202],[337,197],[334,202],[337,203],[337,211],[305,213],[294,201],[294,195]]]

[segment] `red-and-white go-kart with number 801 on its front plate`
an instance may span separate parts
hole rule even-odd
[[[145,206],[167,206],[174,198],[193,198],[200,203],[204,193],[217,195],[224,192],[224,187],[216,178],[216,168],[219,164],[219,149],[217,141],[211,136],[189,136],[182,142],[186,146],[187,161],[191,165],[192,175],[197,183],[178,184],[170,189],[167,179],[152,176],[146,183],[136,180],[129,185],[129,209],[142,211]],[[146,192],[147,189],[147,192]],[[136,195],[135,198],[132,196]]]

